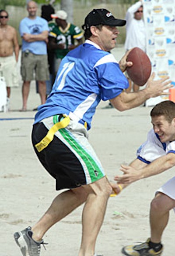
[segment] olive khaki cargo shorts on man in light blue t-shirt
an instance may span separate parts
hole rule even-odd
[[[35,55],[31,52],[21,56],[21,76],[23,81],[49,80],[49,68],[47,55]]]

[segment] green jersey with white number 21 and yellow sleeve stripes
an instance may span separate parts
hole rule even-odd
[[[64,30],[60,26],[53,26],[49,36],[56,38],[57,44],[65,44],[64,49],[55,50],[56,58],[63,59],[69,52],[68,46],[75,44],[75,39],[81,39],[83,37],[83,32],[78,26],[68,23]]]

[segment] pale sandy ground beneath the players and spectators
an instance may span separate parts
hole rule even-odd
[[[117,59],[123,47],[113,53]],[[15,231],[32,226],[58,194],[53,179],[39,164],[31,146],[31,127],[40,103],[31,84],[27,112],[21,108],[21,85],[11,93],[11,111],[0,113],[0,256],[19,256],[21,252],[13,239]],[[129,164],[151,128],[150,107],[137,107],[120,113],[104,109],[101,102],[89,132],[110,180],[120,173],[121,163]],[[121,194],[109,199],[105,220],[98,236],[96,252],[104,256],[122,256],[123,245],[145,241],[149,237],[149,207],[154,192],[173,176],[172,170],[137,181]],[[76,256],[81,242],[82,207],[52,227],[44,237],[47,250],[41,256]],[[163,256],[174,255],[174,213],[170,213],[163,235]]]

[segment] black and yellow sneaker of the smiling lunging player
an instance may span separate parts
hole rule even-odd
[[[122,253],[127,256],[160,256],[163,252],[163,246],[158,252],[155,252],[154,249],[150,248],[149,241],[150,238],[140,245],[127,245],[122,248]]]

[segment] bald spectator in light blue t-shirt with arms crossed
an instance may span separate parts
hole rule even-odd
[[[34,80],[34,73],[35,80],[38,81],[41,104],[45,103],[45,81],[49,79],[47,60],[48,23],[44,18],[36,16],[37,4],[34,1],[28,2],[27,10],[28,17],[22,19],[19,26],[22,37],[21,76],[23,80],[23,106],[21,111],[27,110],[30,82]]]

